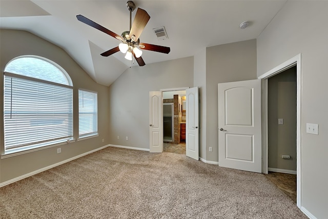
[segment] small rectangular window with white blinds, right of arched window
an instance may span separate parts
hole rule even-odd
[[[97,93],[78,90],[78,135],[79,138],[98,134]]]

